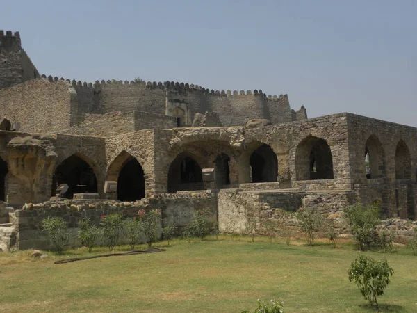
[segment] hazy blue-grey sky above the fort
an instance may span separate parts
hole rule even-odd
[[[44,74],[288,93],[417,127],[417,1],[1,1]]]

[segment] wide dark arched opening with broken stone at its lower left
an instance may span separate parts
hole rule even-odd
[[[69,186],[64,197],[71,199],[74,193],[97,193],[97,178],[92,167],[73,154],[56,168],[52,179],[52,195],[60,184]]]

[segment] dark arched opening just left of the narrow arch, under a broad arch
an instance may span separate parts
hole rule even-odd
[[[202,168],[186,153],[179,154],[170,165],[168,192],[204,189]]]

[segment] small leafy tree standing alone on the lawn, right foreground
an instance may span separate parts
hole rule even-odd
[[[375,261],[365,255],[360,255],[352,262],[347,274],[349,281],[356,282],[365,300],[375,305],[379,310],[377,296],[382,296],[394,273],[386,260]]]

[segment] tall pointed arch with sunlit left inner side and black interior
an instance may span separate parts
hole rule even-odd
[[[108,166],[107,180],[117,182],[117,200],[133,202],[145,198],[145,172],[126,150]]]

